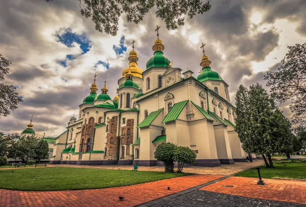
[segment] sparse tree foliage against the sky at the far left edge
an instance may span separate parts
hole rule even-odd
[[[7,60],[0,54],[0,81],[5,79],[5,76],[9,74],[9,65],[12,62]],[[7,85],[0,82],[0,117],[7,116],[14,109],[17,108],[17,104],[23,102],[21,97],[16,92],[14,85]]]

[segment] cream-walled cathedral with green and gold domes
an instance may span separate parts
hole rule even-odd
[[[79,116],[72,116],[66,131],[53,139],[49,164],[163,165],[154,158],[163,142],[190,147],[197,166],[243,161],[228,84],[201,48],[201,72],[194,77],[190,70],[172,68],[159,34],[142,71],[133,41],[116,96],[108,95],[106,81],[97,94],[94,76]]]

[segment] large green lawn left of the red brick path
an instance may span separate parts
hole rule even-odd
[[[12,170],[14,172],[12,172]],[[129,186],[188,175],[132,170],[43,167],[0,170],[0,189],[55,191]]]

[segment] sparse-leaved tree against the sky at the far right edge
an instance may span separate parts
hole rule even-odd
[[[268,72],[264,79],[271,87],[271,95],[283,103],[292,100],[294,123],[305,125],[306,120],[306,43],[288,46],[289,52],[276,72]]]

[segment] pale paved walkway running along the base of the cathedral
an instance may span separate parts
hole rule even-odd
[[[235,162],[234,165],[221,165],[218,167],[200,167],[200,166],[189,166],[184,167],[183,171],[186,173],[196,174],[219,174],[219,175],[231,175],[237,172],[263,165],[263,160],[257,160],[254,162]],[[50,167],[78,167],[78,168],[93,168],[93,169],[134,169],[133,165],[49,165]],[[163,166],[152,166],[152,167],[138,167],[139,171],[160,171],[163,172],[165,168]]]

